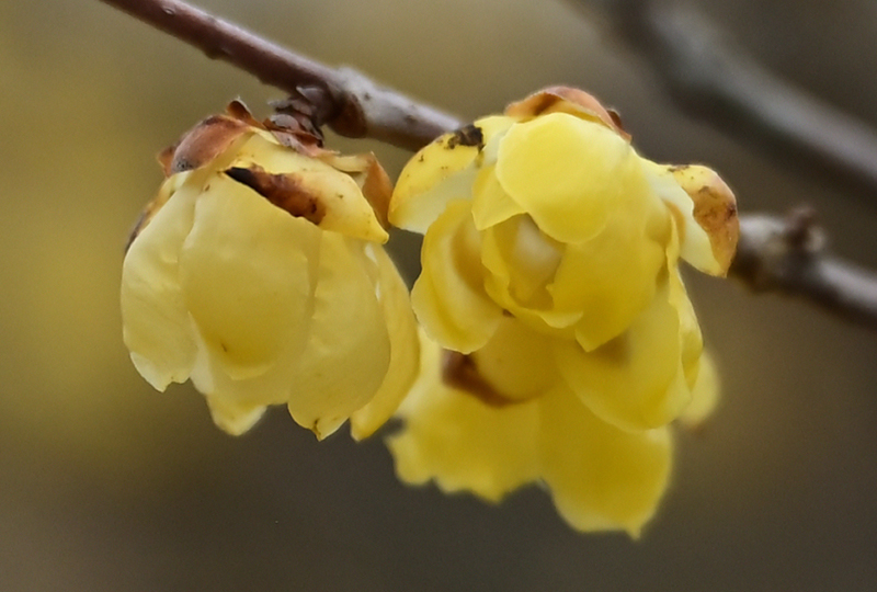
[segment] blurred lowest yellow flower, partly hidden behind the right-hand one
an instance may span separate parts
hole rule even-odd
[[[574,528],[637,536],[668,485],[670,429],[600,420],[560,379],[551,339],[511,319],[468,356],[424,339],[405,430],[388,441],[397,474],[492,502],[540,482]]]

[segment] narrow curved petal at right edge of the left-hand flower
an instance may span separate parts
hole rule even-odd
[[[377,259],[379,300],[389,332],[390,362],[375,396],[350,418],[351,434],[355,440],[368,437],[392,417],[420,368],[420,340],[408,287],[387,252],[380,247],[366,246],[369,248]]]

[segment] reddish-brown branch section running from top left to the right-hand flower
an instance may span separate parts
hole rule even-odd
[[[454,117],[379,87],[350,68],[332,69],[280,47],[180,0],[101,0],[291,94],[320,94],[321,123],[352,138],[369,137],[417,149]],[[318,92],[314,92],[318,89]],[[319,92],[321,91],[321,92]]]

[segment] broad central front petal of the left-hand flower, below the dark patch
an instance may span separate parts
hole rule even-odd
[[[206,346],[232,379],[263,374],[287,343],[304,345],[320,234],[228,178],[215,177],[198,197],[181,284]]]

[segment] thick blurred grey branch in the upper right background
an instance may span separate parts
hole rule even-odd
[[[777,78],[702,14],[656,0],[576,1],[604,9],[687,114],[835,185],[877,195],[877,132]]]

